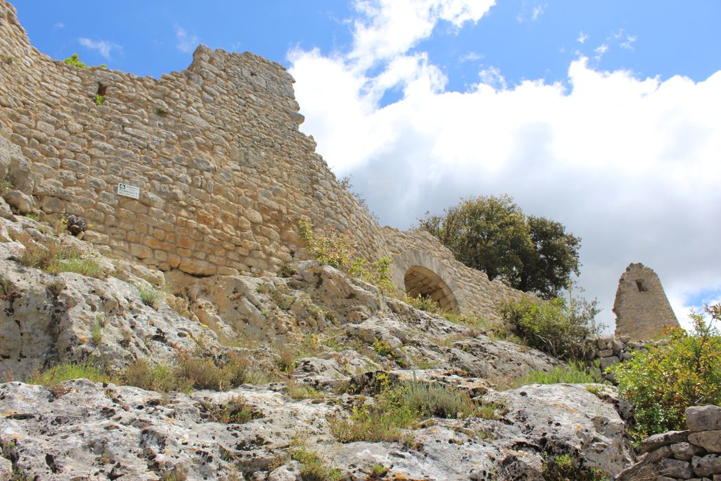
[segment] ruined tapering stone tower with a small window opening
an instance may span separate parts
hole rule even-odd
[[[616,339],[652,339],[663,327],[678,326],[658,275],[641,263],[629,264],[621,275],[614,313]]]

